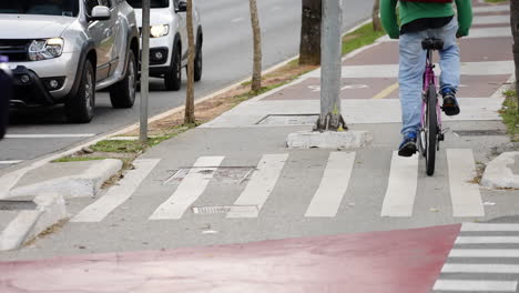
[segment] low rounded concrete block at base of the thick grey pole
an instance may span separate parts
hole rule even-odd
[[[373,134],[368,131],[299,131],[286,138],[291,149],[358,149],[372,141]]]

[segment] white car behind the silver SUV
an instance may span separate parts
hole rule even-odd
[[[128,0],[135,9],[142,27],[142,0]],[[202,79],[202,44],[204,34],[200,13],[193,1],[195,28],[195,81]],[[177,91],[182,83],[182,69],[187,67],[187,4],[185,0],[151,0],[150,75],[163,78],[166,90]]]

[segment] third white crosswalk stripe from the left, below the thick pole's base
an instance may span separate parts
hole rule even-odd
[[[287,153],[263,155],[257,170],[254,171],[245,190],[234,203],[238,210],[231,209],[226,218],[257,218],[274,190],[287,159]],[[248,208],[243,210],[240,209],[241,206]]]

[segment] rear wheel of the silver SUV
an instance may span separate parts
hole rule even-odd
[[[132,108],[135,103],[138,65],[135,54],[128,54],[126,75],[110,88],[110,102],[115,109]]]

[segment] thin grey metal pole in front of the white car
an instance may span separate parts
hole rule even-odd
[[[139,141],[147,143],[147,97],[150,94],[150,0],[142,1],[141,121]]]

